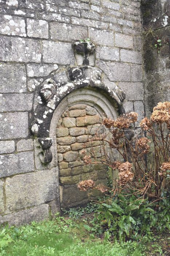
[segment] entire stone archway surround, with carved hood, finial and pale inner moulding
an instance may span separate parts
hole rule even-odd
[[[110,82],[102,70],[88,65],[92,55],[94,56],[94,45],[91,42],[76,42],[74,47],[76,57],[79,53],[82,56],[84,50],[82,65],[74,68],[61,67],[49,75],[48,79],[37,88],[29,122],[31,133],[35,138],[36,169],[53,168],[56,175],[58,189],[55,206],[58,210],[61,193],[59,193],[56,126],[62,113],[78,103],[94,107],[101,117],[113,118],[124,113],[122,106],[124,92]]]

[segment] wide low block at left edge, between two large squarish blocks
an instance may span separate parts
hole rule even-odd
[[[0,94],[1,112],[31,110],[32,99],[33,94]]]

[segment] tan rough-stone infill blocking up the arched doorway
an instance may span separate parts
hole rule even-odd
[[[100,141],[90,142],[92,135],[105,132],[102,117],[89,105],[76,104],[62,114],[56,129],[58,143],[60,202],[62,208],[87,203],[87,192],[80,192],[77,185],[92,179],[96,184],[107,184],[106,170],[102,164],[84,165],[83,157],[93,151],[95,160],[103,156]],[[91,154],[91,155],[92,155]],[[99,195],[93,191],[92,197]]]

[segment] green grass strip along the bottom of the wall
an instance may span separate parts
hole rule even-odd
[[[1,227],[0,256],[142,256],[146,247],[137,242],[104,241],[88,233],[86,219],[57,216],[55,220],[32,222],[21,227]],[[152,255],[160,254],[158,246]],[[160,251],[160,252],[159,252]],[[158,254],[157,254],[158,252]]]

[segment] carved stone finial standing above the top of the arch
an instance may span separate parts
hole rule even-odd
[[[90,41],[78,41],[73,44],[78,65],[94,65],[95,45]]]

